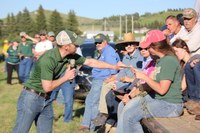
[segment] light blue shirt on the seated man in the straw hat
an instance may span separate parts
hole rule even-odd
[[[129,54],[125,55],[122,62],[126,66],[132,66],[133,68],[142,70],[142,63],[143,63],[143,56],[140,54],[140,51],[136,49],[135,53],[133,56],[130,56]],[[117,74],[117,89],[125,89],[127,88],[131,83],[124,83],[120,81],[120,78],[123,76],[128,76],[133,78],[134,74],[131,72],[129,68],[120,70],[119,73]]]

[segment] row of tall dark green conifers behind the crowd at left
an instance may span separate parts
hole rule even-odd
[[[0,20],[0,38],[12,40],[19,37],[19,33],[22,31],[30,36],[34,36],[40,30],[53,31],[57,34],[59,31],[65,30],[66,27],[78,35],[82,34],[78,29],[79,23],[73,10],[69,11],[67,20],[63,20],[56,10],[50,14],[49,18],[46,18],[44,9],[40,5],[35,12],[35,17],[35,19],[31,17],[27,8],[23,12],[18,12],[16,16],[13,13],[8,14],[5,21]]]

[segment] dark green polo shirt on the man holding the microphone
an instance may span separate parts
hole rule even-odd
[[[70,59],[76,60],[76,65],[82,65],[85,57],[78,54],[61,58],[58,48],[46,51],[36,62],[34,69],[30,73],[25,86],[42,93],[46,93],[42,88],[41,80],[56,80],[67,68]]]

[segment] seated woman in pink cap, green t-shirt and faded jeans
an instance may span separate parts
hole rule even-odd
[[[157,55],[154,71],[147,76],[131,68],[136,78],[145,83],[154,93],[145,96],[130,96],[128,103],[120,102],[116,133],[144,132],[140,120],[148,117],[178,117],[183,112],[180,65],[166,36],[159,30],[147,33],[142,48]]]

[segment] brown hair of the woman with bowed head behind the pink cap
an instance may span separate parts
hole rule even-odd
[[[176,39],[176,41],[174,41],[172,43],[172,47],[183,48],[183,49],[185,49],[185,51],[187,53],[190,53],[189,48],[188,48],[186,42],[183,41],[182,39]],[[184,64],[185,64],[185,62],[183,60],[180,60],[180,66],[181,66],[181,68],[184,67]]]

